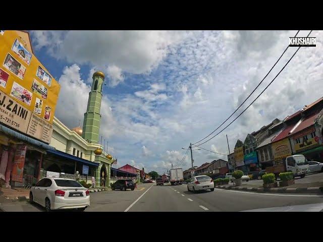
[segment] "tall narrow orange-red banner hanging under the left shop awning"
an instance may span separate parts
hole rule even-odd
[[[22,183],[27,145],[17,145],[14,165],[12,167],[12,180]]]

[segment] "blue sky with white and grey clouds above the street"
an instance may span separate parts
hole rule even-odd
[[[61,84],[56,109],[70,129],[83,122],[95,71],[105,74],[100,136],[118,167],[164,173],[190,142],[243,102],[289,44],[293,31],[30,31],[35,55]],[[308,31],[297,36],[305,37]],[[228,154],[237,139],[283,119],[322,96],[322,31],[301,47],[273,84],[231,126],[201,145]],[[290,47],[242,111],[296,51]],[[229,122],[239,113],[238,111]],[[229,124],[228,122],[228,124]],[[225,127],[225,126],[223,126]],[[219,130],[220,131],[220,130]],[[216,133],[214,133],[216,134]],[[226,155],[193,151],[194,166]],[[188,154],[180,167],[191,166]]]

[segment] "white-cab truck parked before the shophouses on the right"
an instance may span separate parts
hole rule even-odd
[[[287,156],[282,165],[274,165],[266,168],[266,173],[274,173],[276,179],[279,173],[291,171],[295,176],[303,178],[309,172],[308,161],[304,155],[291,155]]]

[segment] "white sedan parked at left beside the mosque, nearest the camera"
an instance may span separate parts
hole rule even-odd
[[[45,207],[46,212],[55,209],[84,211],[90,206],[90,192],[76,180],[46,177],[31,188],[29,200]]]

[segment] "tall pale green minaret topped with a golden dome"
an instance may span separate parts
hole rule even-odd
[[[99,142],[99,130],[101,121],[102,85],[104,81],[103,72],[95,72],[92,76],[93,83],[89,92],[86,113],[84,113],[82,137],[89,143]]]

